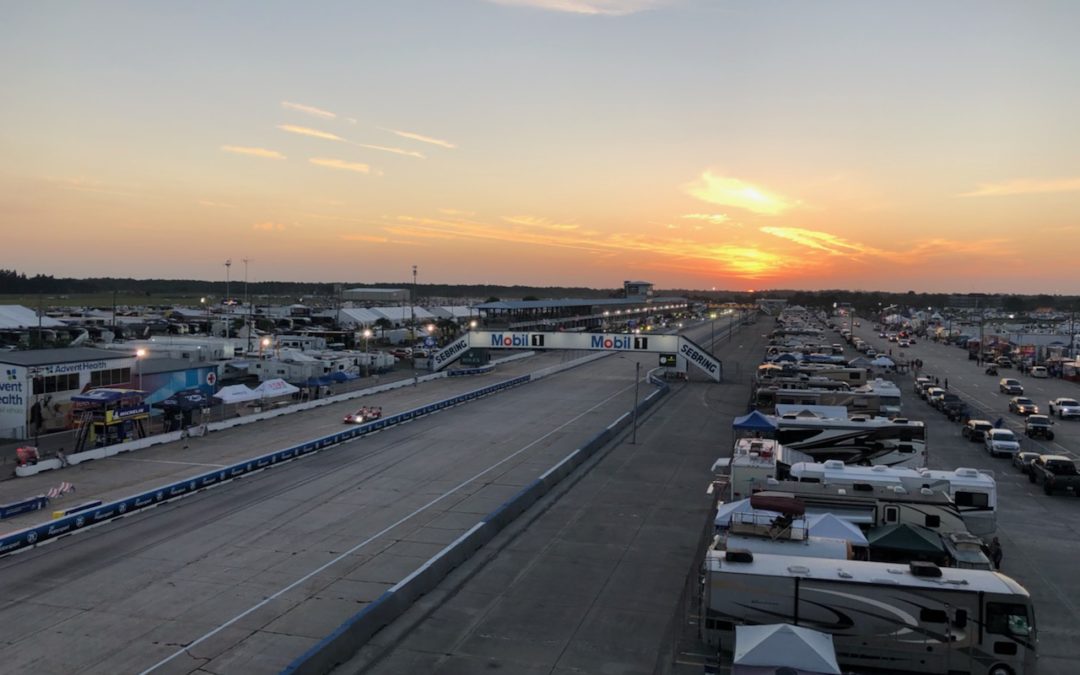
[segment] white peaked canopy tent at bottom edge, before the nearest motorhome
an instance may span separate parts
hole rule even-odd
[[[734,673],[740,666],[769,666],[840,675],[832,635],[786,623],[737,625],[733,657]]]

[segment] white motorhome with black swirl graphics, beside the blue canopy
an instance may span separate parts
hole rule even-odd
[[[904,418],[823,417],[811,411],[770,418],[777,440],[813,461],[886,464],[910,469],[927,465],[927,427]]]

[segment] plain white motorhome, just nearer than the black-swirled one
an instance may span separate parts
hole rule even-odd
[[[997,482],[985,471],[968,468],[932,471],[883,465],[853,467],[828,460],[824,463],[796,462],[791,465],[788,474],[795,481],[841,487],[899,485],[908,492],[921,491],[922,488],[944,490],[960,510],[970,532],[988,535],[997,529]]]

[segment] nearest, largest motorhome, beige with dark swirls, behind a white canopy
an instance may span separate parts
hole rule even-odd
[[[1036,672],[1030,595],[998,572],[710,550],[702,583],[703,635],[721,651],[735,625],[783,622],[831,633],[859,672]]]

